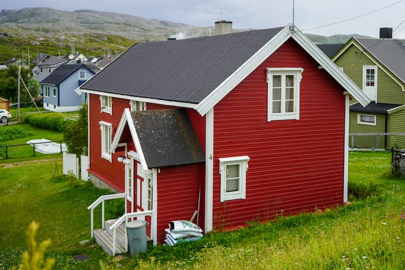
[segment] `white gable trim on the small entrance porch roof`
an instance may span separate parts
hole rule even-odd
[[[146,164],[146,160],[145,160],[145,156],[143,155],[141,143],[139,142],[138,134],[136,133],[134,122],[132,121],[131,112],[128,108],[124,109],[123,116],[121,117],[121,120],[119,121],[117,131],[115,132],[115,135],[114,135],[114,139],[111,142],[111,152],[115,152],[115,148],[118,146],[119,139],[121,138],[121,135],[123,134],[125,124],[128,124],[128,127],[130,129],[132,140],[134,141],[135,148],[139,155],[139,160],[141,162],[142,169],[144,171],[147,171],[147,170],[149,170],[148,165]]]

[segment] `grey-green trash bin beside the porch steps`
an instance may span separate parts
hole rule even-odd
[[[134,220],[127,223],[128,247],[132,257],[147,249],[146,225],[148,224],[145,220]]]

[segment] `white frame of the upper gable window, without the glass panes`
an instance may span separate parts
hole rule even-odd
[[[267,68],[267,121],[273,120],[299,120],[300,119],[300,82],[303,68]],[[281,112],[273,113],[273,75],[281,75]],[[294,76],[294,109],[286,112],[286,75]]]

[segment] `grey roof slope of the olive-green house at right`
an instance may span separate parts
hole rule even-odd
[[[405,40],[354,38],[405,84]]]

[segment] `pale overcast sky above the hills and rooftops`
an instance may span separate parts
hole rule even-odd
[[[27,7],[92,9],[200,27],[214,25],[217,20],[230,20],[233,28],[239,29],[272,28],[293,22],[293,0],[0,0],[0,9]],[[295,25],[305,33],[379,37],[380,27],[391,27],[393,37],[405,38],[405,0],[295,0],[294,14]],[[306,30],[309,28],[315,29]]]

